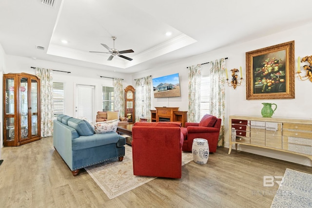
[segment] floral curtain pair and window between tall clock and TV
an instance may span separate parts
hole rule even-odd
[[[136,79],[136,121],[141,117],[151,121],[151,87],[151,76]]]

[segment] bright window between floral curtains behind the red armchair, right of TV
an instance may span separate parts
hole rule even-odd
[[[200,81],[200,118],[210,113],[210,77],[202,76]]]

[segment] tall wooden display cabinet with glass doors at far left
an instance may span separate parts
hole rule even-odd
[[[3,75],[3,145],[41,139],[40,79],[20,73]]]

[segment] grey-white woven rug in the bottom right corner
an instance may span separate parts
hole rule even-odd
[[[271,208],[311,208],[312,175],[286,169]]]

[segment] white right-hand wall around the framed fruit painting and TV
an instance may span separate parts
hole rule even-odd
[[[181,111],[188,110],[188,70],[186,67],[199,63],[206,63],[211,60],[228,57],[226,60],[226,67],[228,70],[242,67],[243,84],[238,86],[235,90],[233,87],[226,87],[226,134],[225,146],[229,146],[229,116],[235,114],[241,115],[255,115],[261,116],[262,102],[270,102],[277,104],[277,110],[273,116],[311,119],[312,97],[310,96],[310,89],[312,83],[310,81],[300,81],[295,77],[295,98],[294,99],[270,99],[270,100],[247,100],[246,99],[246,52],[253,51],[268,46],[295,41],[295,60],[297,57],[311,56],[310,32],[312,32],[312,24],[307,24],[302,27],[286,30],[281,33],[276,33],[271,36],[254,39],[252,41],[237,43],[235,45],[223,47],[215,51],[202,54],[196,57],[184,59],[178,63],[171,64],[161,68],[153,68],[143,73],[133,75],[133,78],[151,75],[153,77],[164,76],[174,73],[179,73],[181,85],[181,97],[179,98],[152,98],[152,108],[168,106],[180,107]],[[202,73],[208,73],[209,64],[202,65]],[[303,64],[302,64],[303,65]],[[295,71],[297,62],[295,62]],[[295,75],[293,75],[295,76]],[[153,94],[152,94],[153,95]],[[294,154],[265,150],[262,148],[250,148],[241,146],[241,150],[249,151],[265,156],[271,156],[278,159],[288,160],[295,163],[312,166],[311,161],[307,157],[298,156]]]

